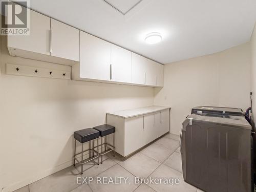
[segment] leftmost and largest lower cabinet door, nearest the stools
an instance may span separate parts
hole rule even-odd
[[[124,122],[124,156],[143,146],[143,117],[131,117]]]

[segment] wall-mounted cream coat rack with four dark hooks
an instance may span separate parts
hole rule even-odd
[[[71,71],[14,65],[10,63],[6,63],[6,74],[55,79],[71,79]]]

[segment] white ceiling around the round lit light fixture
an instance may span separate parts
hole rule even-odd
[[[125,11],[138,1],[108,2]],[[125,15],[103,0],[30,0],[30,7],[161,63],[247,42],[256,20],[255,0],[143,0]],[[150,32],[162,41],[145,44]]]

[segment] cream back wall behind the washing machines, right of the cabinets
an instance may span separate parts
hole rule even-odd
[[[164,88],[155,89],[154,104],[172,107],[171,133],[180,134],[194,106],[249,106],[249,43],[164,67]]]

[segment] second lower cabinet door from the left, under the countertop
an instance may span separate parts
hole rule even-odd
[[[144,115],[143,143],[150,143],[155,139],[154,114]]]

